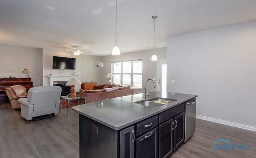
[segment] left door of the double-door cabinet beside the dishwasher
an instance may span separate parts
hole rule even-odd
[[[173,153],[174,119],[159,126],[159,158],[168,158]]]

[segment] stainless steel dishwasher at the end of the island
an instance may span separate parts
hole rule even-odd
[[[186,102],[185,141],[196,132],[196,98]]]

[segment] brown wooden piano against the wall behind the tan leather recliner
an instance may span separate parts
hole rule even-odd
[[[22,85],[28,91],[31,87],[34,87],[33,81],[31,78],[0,78],[0,103],[2,102],[9,102],[9,98],[7,97],[4,89],[12,86],[12,85]]]

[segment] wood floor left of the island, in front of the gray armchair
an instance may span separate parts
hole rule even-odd
[[[52,118],[30,122],[0,105],[0,158],[78,158],[78,114],[67,109]]]

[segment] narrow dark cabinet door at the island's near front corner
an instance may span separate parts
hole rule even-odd
[[[134,126],[120,131],[120,158],[134,158]]]

